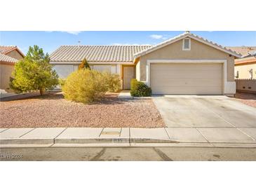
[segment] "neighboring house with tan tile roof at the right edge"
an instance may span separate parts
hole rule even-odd
[[[229,47],[242,55],[235,60],[235,78],[256,78],[256,47]]]

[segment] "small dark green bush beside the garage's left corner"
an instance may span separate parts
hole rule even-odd
[[[151,93],[151,88],[145,83],[137,81],[135,78],[130,81],[130,95],[133,97],[149,97]]]

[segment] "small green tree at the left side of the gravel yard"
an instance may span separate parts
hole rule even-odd
[[[49,62],[50,57],[42,48],[29,47],[26,57],[15,64],[10,87],[18,92],[39,90],[40,95],[46,89],[53,89],[58,85],[58,74]]]

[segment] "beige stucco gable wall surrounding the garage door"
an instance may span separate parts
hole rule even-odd
[[[182,50],[182,40],[140,57],[140,81],[146,81],[147,60],[227,60],[227,81],[234,81],[234,56],[191,39],[191,50]],[[210,72],[210,71],[209,71]]]

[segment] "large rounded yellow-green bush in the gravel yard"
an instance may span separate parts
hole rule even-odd
[[[88,104],[100,100],[107,92],[105,76],[90,69],[76,70],[62,87],[65,99]]]

